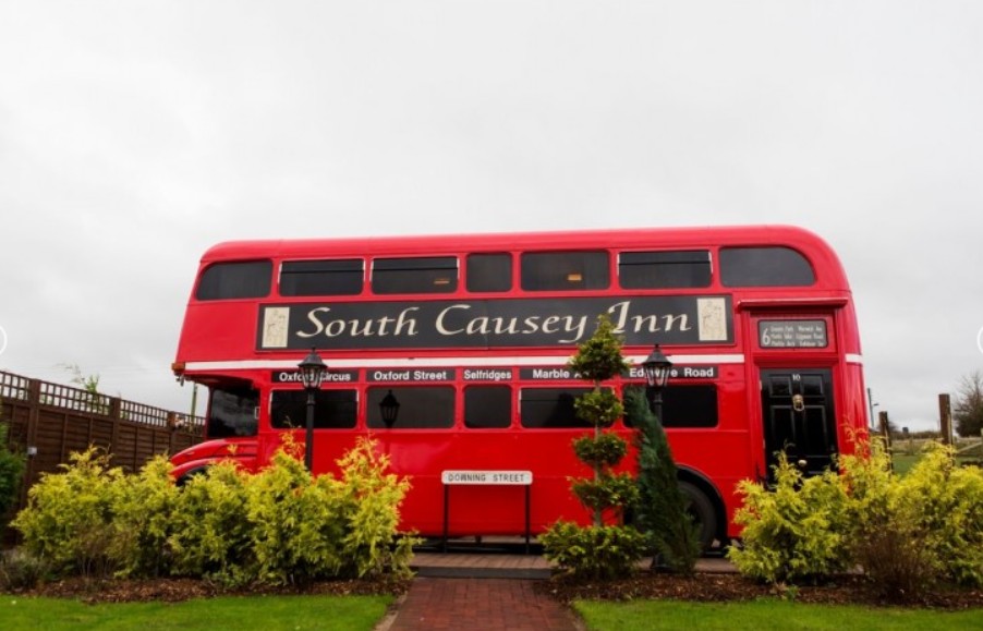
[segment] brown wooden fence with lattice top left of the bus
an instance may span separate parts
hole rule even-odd
[[[27,454],[27,489],[43,473],[59,471],[73,451],[90,445],[111,454],[111,464],[139,470],[158,453],[177,453],[202,440],[203,420],[78,388],[0,372],[0,423],[12,451]]]

